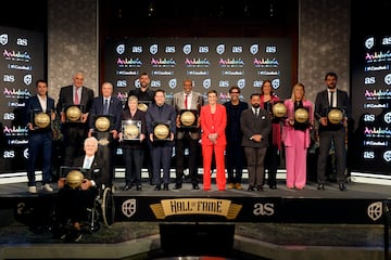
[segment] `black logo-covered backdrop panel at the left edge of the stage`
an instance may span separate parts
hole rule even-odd
[[[24,106],[35,94],[35,81],[45,77],[41,32],[0,27],[0,174],[25,171],[28,157]]]

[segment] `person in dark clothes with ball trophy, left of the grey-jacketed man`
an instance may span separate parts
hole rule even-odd
[[[151,158],[153,168],[153,180],[156,184],[155,191],[161,190],[161,167],[163,169],[163,190],[168,191],[169,167],[174,145],[174,135],[176,133],[176,113],[174,106],[165,103],[165,91],[160,89],[154,94],[155,103],[150,105],[147,110],[147,132],[151,141]],[[160,140],[154,132],[156,123],[166,122],[169,128],[167,136]],[[163,126],[161,129],[165,129]],[[164,132],[163,132],[164,133]]]

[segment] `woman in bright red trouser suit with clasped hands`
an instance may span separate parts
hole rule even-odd
[[[218,191],[225,191],[225,158],[224,151],[227,145],[225,128],[227,125],[227,113],[224,105],[217,103],[217,91],[207,91],[207,105],[201,107],[201,146],[203,157],[203,188],[211,190],[211,165],[214,151],[216,160],[216,184]]]

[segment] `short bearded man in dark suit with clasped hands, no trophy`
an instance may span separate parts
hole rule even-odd
[[[250,96],[251,107],[242,112],[240,128],[243,132],[242,146],[247,158],[249,171],[249,188],[253,192],[256,187],[263,191],[264,160],[269,145],[268,134],[272,130],[272,120],[268,112],[261,108],[261,94]]]

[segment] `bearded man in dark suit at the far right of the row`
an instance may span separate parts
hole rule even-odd
[[[317,93],[315,100],[315,118],[319,121],[319,155],[317,160],[317,181],[319,191],[325,190],[326,169],[331,141],[333,141],[335,156],[337,164],[337,181],[340,191],[345,191],[345,128],[350,118],[350,101],[348,92],[337,89],[337,74],[327,73],[325,76],[326,90]],[[328,119],[328,112],[332,107],[339,107],[343,112],[341,122],[332,123]]]

